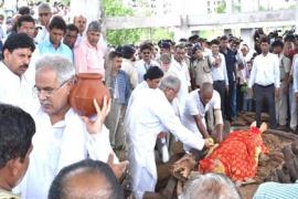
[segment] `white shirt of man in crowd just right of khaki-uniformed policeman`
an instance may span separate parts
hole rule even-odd
[[[225,85],[228,85],[226,65],[225,65],[225,57],[222,53],[219,53],[221,57],[221,64],[219,66],[212,66],[212,78],[214,81],[225,81]],[[210,56],[210,62],[213,63],[215,57],[213,55]]]

